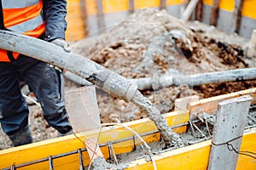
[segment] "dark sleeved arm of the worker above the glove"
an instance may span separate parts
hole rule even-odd
[[[44,0],[45,40],[52,41],[56,38],[65,40],[67,22],[66,0]]]

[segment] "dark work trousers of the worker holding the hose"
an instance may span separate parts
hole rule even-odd
[[[67,120],[63,75],[42,61],[20,54],[13,62],[0,62],[0,122],[9,135],[26,127],[28,107],[20,93],[20,77],[36,95],[49,126],[60,133],[72,127]]]

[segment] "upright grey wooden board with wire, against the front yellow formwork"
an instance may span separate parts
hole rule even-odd
[[[208,170],[236,169],[241,137],[252,97],[228,99],[218,104]]]

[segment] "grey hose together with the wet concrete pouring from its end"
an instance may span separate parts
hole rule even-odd
[[[131,101],[144,111],[159,129],[166,144],[177,144],[180,140],[173,133],[160,111],[137,90],[137,86],[114,71],[109,71],[86,57],[67,53],[63,48],[34,37],[28,37],[11,31],[0,30],[0,48],[25,54],[34,59],[42,60],[96,84],[108,94],[125,101]]]

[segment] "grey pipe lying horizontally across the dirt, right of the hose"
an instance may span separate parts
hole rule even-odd
[[[194,75],[180,76],[160,76],[156,78],[144,77],[130,79],[131,82],[137,84],[140,90],[150,88],[168,88],[170,86],[179,86],[187,84],[190,87],[203,84],[218,83],[218,82],[241,82],[256,79],[256,68],[244,68],[230,71],[215,71],[208,73],[200,73]],[[154,85],[154,87],[153,87]]]

